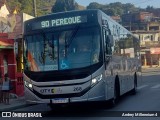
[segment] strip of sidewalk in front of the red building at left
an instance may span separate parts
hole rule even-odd
[[[27,106],[24,97],[17,97],[14,94],[10,96],[10,104],[0,103],[0,111],[11,111],[20,107]]]

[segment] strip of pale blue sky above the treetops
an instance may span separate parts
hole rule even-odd
[[[88,6],[91,2],[97,2],[100,4],[109,4],[114,2],[131,3],[136,7],[146,8],[147,6],[153,6],[154,8],[160,8],[160,0],[75,0],[79,5]]]

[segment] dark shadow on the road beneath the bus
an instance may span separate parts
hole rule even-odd
[[[138,94],[138,93],[137,93]],[[128,97],[132,97],[127,93],[120,97],[118,106]],[[116,107],[115,106],[115,107]],[[88,102],[77,103],[63,106],[55,106],[49,112],[45,113],[47,117],[119,117],[123,111],[113,111],[109,102]]]

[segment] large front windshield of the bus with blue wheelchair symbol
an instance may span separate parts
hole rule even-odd
[[[27,35],[24,39],[25,70],[53,71],[87,67],[100,61],[97,27]]]

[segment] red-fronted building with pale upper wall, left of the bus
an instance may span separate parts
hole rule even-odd
[[[12,93],[22,96],[22,34],[23,22],[33,18],[27,14],[17,14],[9,10],[5,0],[0,0],[0,73],[8,73],[14,89]],[[2,81],[1,81],[2,82]]]

